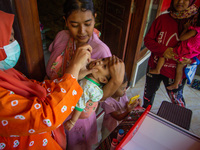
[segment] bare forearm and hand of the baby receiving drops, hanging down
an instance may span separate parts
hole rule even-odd
[[[75,125],[76,121],[78,120],[78,118],[80,117],[80,115],[81,115],[81,111],[74,109],[72,118],[64,123],[65,129],[70,131],[74,127],[74,125]]]

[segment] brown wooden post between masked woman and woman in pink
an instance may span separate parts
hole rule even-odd
[[[28,77],[42,81],[45,74],[37,0],[13,0],[22,37]]]

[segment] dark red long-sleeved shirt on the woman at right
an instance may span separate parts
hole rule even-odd
[[[178,46],[178,23],[169,13],[160,15],[151,25],[144,38],[145,46],[151,51],[149,66],[155,68],[159,57],[168,47]],[[200,59],[200,55],[197,56]],[[194,60],[192,60],[193,62]],[[166,59],[160,72],[168,78],[174,79],[176,74],[176,62]],[[185,74],[183,75],[185,77]]]

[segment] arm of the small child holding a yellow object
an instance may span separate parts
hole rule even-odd
[[[118,120],[118,121],[121,121],[123,120],[124,118],[126,118],[128,116],[128,114],[135,108],[137,107],[138,105],[141,105],[142,103],[142,100],[141,99],[138,99],[135,103],[133,104],[128,104],[127,102],[127,107],[126,107],[126,111],[124,113],[120,113],[119,111],[115,111],[115,112],[112,112],[110,113],[110,115]]]

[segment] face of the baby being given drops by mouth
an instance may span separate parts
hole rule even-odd
[[[110,71],[109,71],[109,57],[97,59],[95,61],[90,62],[88,65],[88,69],[97,69],[97,72],[92,73],[93,77],[101,82],[101,83],[108,83],[110,79]]]

